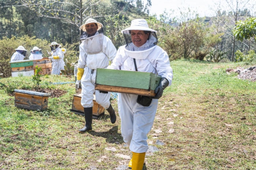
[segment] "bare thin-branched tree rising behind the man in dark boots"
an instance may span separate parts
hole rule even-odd
[[[91,9],[100,2],[101,0],[88,0],[85,3],[82,0],[19,0],[16,6],[25,6],[40,17],[56,19],[79,29],[83,21],[94,16]],[[69,32],[75,28],[70,27]]]

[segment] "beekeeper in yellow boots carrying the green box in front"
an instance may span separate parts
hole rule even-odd
[[[158,99],[163,90],[172,84],[173,70],[167,53],[157,46],[157,31],[148,28],[146,20],[132,20],[131,27],[121,32],[127,44],[117,50],[116,58],[108,68],[153,72],[162,77],[155,89],[155,97],[118,94],[121,133],[132,151],[128,166],[133,170],[142,170],[148,150],[147,134],[153,126]]]

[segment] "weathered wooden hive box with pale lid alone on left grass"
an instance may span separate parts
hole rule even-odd
[[[48,107],[48,97],[51,94],[15,89],[15,101],[16,107],[25,108],[28,110],[46,110]]]

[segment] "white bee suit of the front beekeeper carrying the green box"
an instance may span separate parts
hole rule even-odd
[[[144,29],[143,29],[144,30]],[[124,30],[123,30],[124,31]],[[122,31],[122,32],[123,32]],[[154,30],[153,30],[154,31]],[[153,72],[166,78],[172,84],[173,71],[167,53],[150,39],[141,47],[133,43],[121,46],[109,69],[136,71],[133,59],[140,72]],[[151,130],[157,112],[158,99],[152,99],[150,106],[137,103],[138,95],[118,93],[118,113],[121,118],[121,133],[124,142],[134,153],[146,153],[148,150],[147,134]],[[144,159],[143,159],[144,161]],[[143,162],[142,162],[143,163]]]

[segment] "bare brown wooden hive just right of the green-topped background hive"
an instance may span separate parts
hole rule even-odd
[[[40,72],[40,74],[42,75],[45,75],[45,74],[50,75],[52,72],[52,61],[48,58],[42,58],[41,60],[34,60],[33,65],[34,65],[34,72],[35,72],[35,66],[42,68],[42,72]]]

